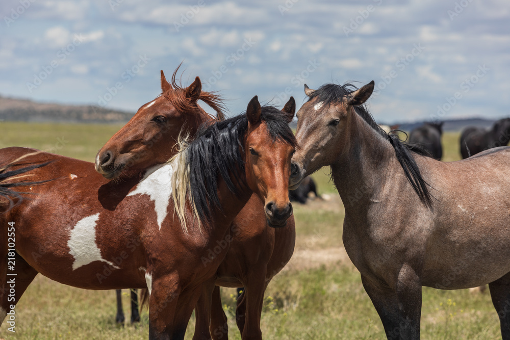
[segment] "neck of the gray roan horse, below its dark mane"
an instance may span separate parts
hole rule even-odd
[[[346,148],[331,165],[331,175],[348,214],[377,201],[399,165],[390,142],[358,114],[347,118],[344,136]]]

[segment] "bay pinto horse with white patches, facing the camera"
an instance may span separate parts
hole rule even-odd
[[[197,94],[193,88],[191,94]],[[154,122],[162,129],[160,116],[156,112]],[[120,182],[124,191],[97,174],[90,163],[63,156],[41,152],[14,164],[15,170],[51,160],[32,170],[31,179],[56,179],[21,187],[34,197],[1,216],[2,225],[16,224],[17,274],[15,301],[9,302],[7,264],[0,265],[2,321],[40,272],[85,289],[147,287],[149,338],[184,338],[201,286],[216,273],[226,251],[220,248],[207,266],[201,258],[231,238],[230,224],[251,194],[265,202],[270,224],[284,224],[291,213],[288,183],[275,182],[288,180],[295,148],[282,112],[261,108],[254,97],[246,115],[219,124],[204,130],[172,162],[148,169],[141,180],[124,178]],[[211,139],[219,147],[203,154]],[[2,149],[0,163],[10,164],[31,152]],[[191,161],[205,158],[209,168],[189,167]],[[173,193],[184,195],[176,200]],[[1,246],[5,258],[7,243]]]

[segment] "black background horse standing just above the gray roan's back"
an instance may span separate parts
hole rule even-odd
[[[443,134],[443,122],[425,123],[411,131],[409,144],[416,145],[426,150],[430,156],[438,161],[443,157],[441,135]]]

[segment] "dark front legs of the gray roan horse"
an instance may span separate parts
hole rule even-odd
[[[361,275],[363,287],[377,310],[388,339],[419,339],[421,285],[399,277],[397,292]],[[414,281],[414,280],[412,280]],[[407,283],[407,284],[406,284]]]

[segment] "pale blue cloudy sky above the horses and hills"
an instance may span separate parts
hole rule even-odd
[[[182,62],[228,115],[304,84],[375,81],[378,122],[500,118],[510,107],[508,0],[3,0],[0,95],[130,112]],[[210,110],[208,110],[210,111]]]

